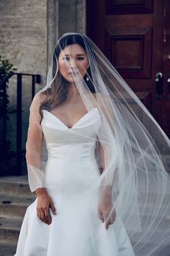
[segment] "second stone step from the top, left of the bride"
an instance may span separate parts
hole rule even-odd
[[[35,197],[12,197],[0,194],[1,216],[23,217],[27,207],[35,200]]]

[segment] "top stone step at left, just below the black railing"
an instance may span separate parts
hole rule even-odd
[[[7,195],[34,197],[30,192],[27,176],[4,176],[0,178],[0,193]]]

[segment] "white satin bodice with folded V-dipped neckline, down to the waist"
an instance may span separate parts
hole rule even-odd
[[[94,158],[97,132],[101,123],[98,108],[92,108],[73,127],[68,128],[49,111],[43,110],[42,130],[48,157],[64,161],[87,161]]]

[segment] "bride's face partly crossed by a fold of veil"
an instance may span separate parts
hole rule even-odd
[[[59,72],[68,82],[73,82],[73,72],[84,77],[89,61],[86,51],[78,43],[64,48],[58,56]]]

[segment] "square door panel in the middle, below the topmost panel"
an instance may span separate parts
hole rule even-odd
[[[151,48],[151,28],[105,30],[104,52],[124,78],[151,77]]]

